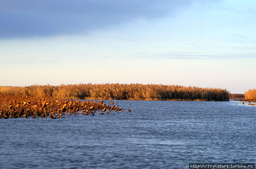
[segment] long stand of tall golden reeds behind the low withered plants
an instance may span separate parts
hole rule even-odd
[[[0,87],[0,94],[61,99],[105,100],[194,100],[228,101],[229,92],[220,88],[184,87],[162,84],[62,84]]]

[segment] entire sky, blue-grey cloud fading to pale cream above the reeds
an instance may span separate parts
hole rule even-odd
[[[0,86],[256,88],[254,0],[1,0]]]

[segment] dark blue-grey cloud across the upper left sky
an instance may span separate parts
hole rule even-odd
[[[173,13],[191,1],[2,0],[0,38],[87,33],[90,30]]]

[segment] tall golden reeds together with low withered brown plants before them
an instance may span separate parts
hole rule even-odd
[[[138,83],[2,86],[0,118],[60,118],[71,114],[94,115],[97,111],[101,111],[99,114],[125,111],[113,102],[110,106],[103,101],[74,99],[228,101],[229,92],[219,88]]]

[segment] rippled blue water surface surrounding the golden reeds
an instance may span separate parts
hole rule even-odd
[[[0,168],[256,163],[256,106],[237,101],[117,102],[132,112],[0,119]]]

